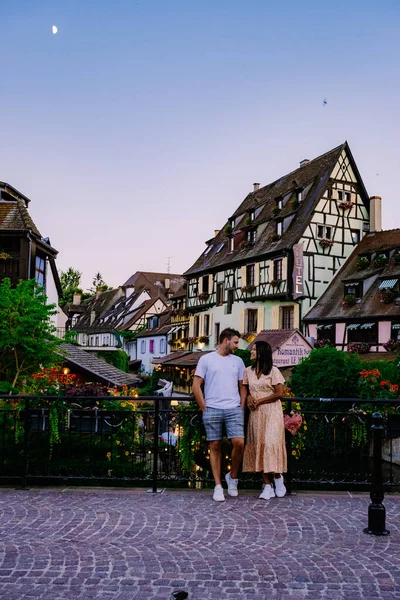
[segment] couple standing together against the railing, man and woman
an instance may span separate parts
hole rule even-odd
[[[230,496],[238,495],[238,472],[243,459],[243,471],[262,472],[263,500],[283,497],[286,488],[282,473],[286,472],[286,447],[283,413],[280,399],[283,379],[272,365],[271,346],[256,342],[251,350],[253,365],[245,368],[241,358],[234,356],[240,333],[224,329],[215,352],[202,356],[198,362],[193,394],[203,413],[203,423],[210,443],[210,464],[215,481],[213,499],[225,500],[221,485],[222,426],[232,442],[232,466],[225,475]],[[204,394],[202,383],[204,382]],[[250,409],[246,447],[244,444],[244,411]]]

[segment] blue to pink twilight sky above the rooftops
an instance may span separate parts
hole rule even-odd
[[[346,139],[400,227],[399,0],[3,0],[0,19],[0,180],[84,287],[185,271],[253,182]]]

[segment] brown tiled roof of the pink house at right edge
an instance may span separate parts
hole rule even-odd
[[[396,306],[394,302],[389,304],[382,302],[379,290],[382,280],[400,279],[400,265],[395,263],[393,256],[386,265],[381,267],[376,266],[373,260],[366,269],[360,270],[358,266],[360,256],[380,254],[393,249],[400,250],[400,229],[365,235],[325,292],[305,315],[304,320],[312,322],[370,317],[400,318],[400,306]],[[345,283],[357,281],[363,282],[364,286],[364,294],[360,302],[353,306],[344,306]]]

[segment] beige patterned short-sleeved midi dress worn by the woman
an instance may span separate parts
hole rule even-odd
[[[273,386],[285,383],[285,380],[277,367],[272,367],[269,375],[261,375],[259,379],[255,370],[247,367],[243,383],[249,386],[250,394],[258,399],[273,394]],[[286,473],[285,428],[280,400],[261,404],[250,412],[243,471]]]

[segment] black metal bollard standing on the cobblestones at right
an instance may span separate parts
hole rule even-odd
[[[383,494],[383,479],[382,479],[382,415],[374,413],[372,415],[373,425],[372,443],[372,487],[371,487],[371,504],[368,507],[368,527],[364,529],[364,533],[370,535],[389,535],[390,531],[386,529],[386,509],[382,504]]]

